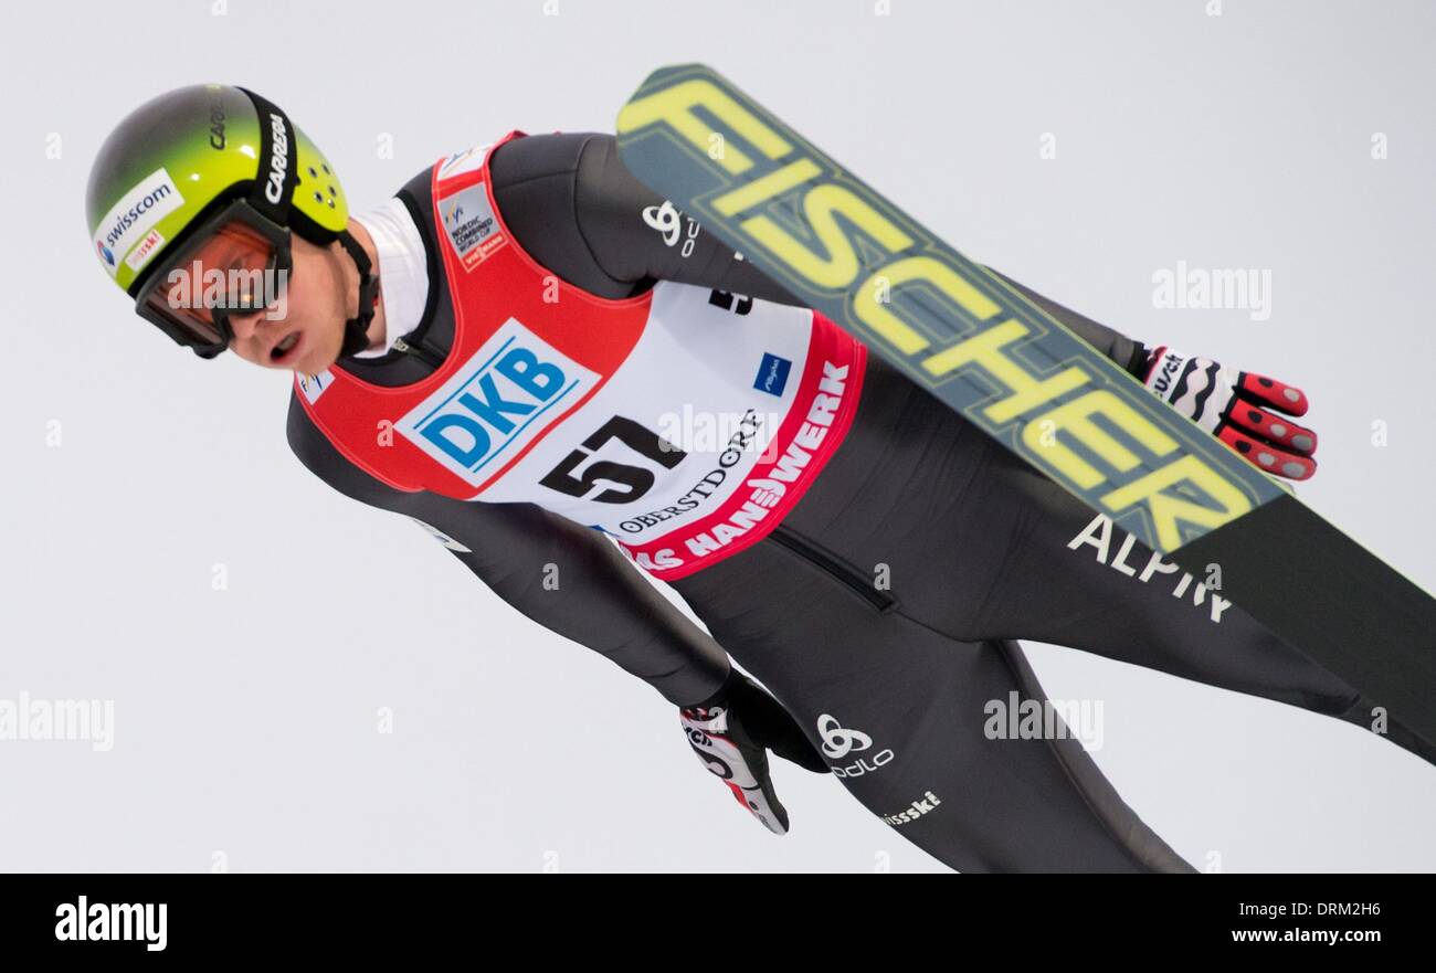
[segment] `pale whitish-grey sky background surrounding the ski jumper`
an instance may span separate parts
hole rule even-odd
[[[277,100],[362,210],[511,128],[612,131],[649,70],[711,63],[964,253],[1305,387],[1323,468],[1302,498],[1436,586],[1430,4],[553,9],[7,11],[0,699],[111,699],[116,730],[108,753],[0,742],[0,868],[941,868],[788,765],[793,832],[770,837],[648,686],[304,471],[283,375],[202,363],[134,316],[96,265],[86,174],[125,112],[182,83]],[[1155,309],[1152,274],[1178,260],[1269,268],[1271,320]],[[1436,768],[1396,746],[1071,650],[1031,657],[1053,696],[1104,700],[1099,763],[1199,868],[1436,867]]]

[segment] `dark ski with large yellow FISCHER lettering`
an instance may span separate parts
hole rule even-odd
[[[645,185],[1436,745],[1436,600],[704,65],[617,118]],[[1216,587],[1216,586],[1213,586]]]

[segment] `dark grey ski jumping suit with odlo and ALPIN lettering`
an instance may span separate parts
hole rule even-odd
[[[491,174],[520,245],[593,294],[675,280],[798,304],[707,231],[686,257],[665,245],[640,218],[663,201],[622,166],[612,136],[516,139],[494,152]],[[428,307],[406,340],[432,359],[447,350],[452,310],[429,172],[399,198],[429,248]],[[1123,367],[1140,367],[1136,342],[1021,290]],[[432,367],[401,352],[343,366],[388,386]],[[500,597],[672,703],[711,696],[731,656],[814,745],[827,743],[859,801],[961,871],[1190,871],[1076,739],[988,732],[994,705],[1045,699],[1014,639],[1370,720],[1370,700],[1140,542],[1124,547],[1123,531],[1094,522],[875,354],[846,441],[783,524],[675,583],[711,637],[593,530],[527,504],[395,491],[350,465],[297,402],[289,439],[327,484],[442,531]],[[560,591],[541,584],[547,564],[560,567]],[[1400,726],[1389,736],[1432,759]]]

